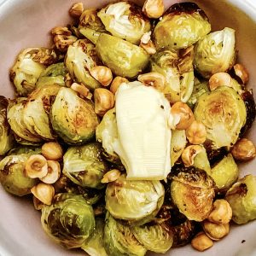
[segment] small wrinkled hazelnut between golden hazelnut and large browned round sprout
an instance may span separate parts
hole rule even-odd
[[[191,144],[201,144],[207,139],[207,129],[200,121],[194,120],[186,130],[186,137]]]

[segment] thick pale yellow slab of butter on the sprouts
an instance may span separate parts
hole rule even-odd
[[[119,143],[114,151],[127,179],[160,180],[171,171],[170,103],[160,91],[140,82],[121,84],[116,93]]]

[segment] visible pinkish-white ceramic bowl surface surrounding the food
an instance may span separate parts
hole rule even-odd
[[[80,0],[83,1],[83,0]],[[248,87],[256,84],[256,3],[255,0],[196,0],[209,16],[212,29],[230,26],[236,29],[236,47],[239,61],[251,77]],[[13,96],[9,83],[9,67],[20,49],[47,46],[49,31],[54,26],[65,26],[69,21],[68,9],[78,0],[0,0],[0,95]],[[83,1],[85,8],[99,7],[106,0]],[[142,1],[141,1],[142,2]],[[166,7],[178,1],[167,0]],[[256,90],[255,90],[256,91]],[[255,143],[256,123],[248,133]],[[254,136],[253,136],[254,135]],[[241,176],[248,172],[256,175],[256,160],[241,167]],[[189,245],[175,248],[167,255],[256,255],[256,221],[235,226],[229,236],[215,242],[204,253]],[[242,240],[245,242],[241,243]],[[56,245],[44,234],[40,224],[40,213],[32,203],[5,193],[0,186],[0,255],[1,256],[65,256],[83,255],[80,251],[67,251]],[[153,254],[152,254],[153,255]],[[100,255],[99,255],[100,256]]]

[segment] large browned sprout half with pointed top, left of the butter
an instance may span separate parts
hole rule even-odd
[[[61,87],[50,109],[55,132],[68,144],[82,144],[95,136],[98,119],[93,104],[70,88]]]

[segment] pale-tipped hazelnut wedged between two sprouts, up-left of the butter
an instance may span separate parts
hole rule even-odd
[[[111,69],[105,66],[92,67],[90,69],[90,74],[103,86],[108,86],[109,84],[111,84],[113,79]]]

